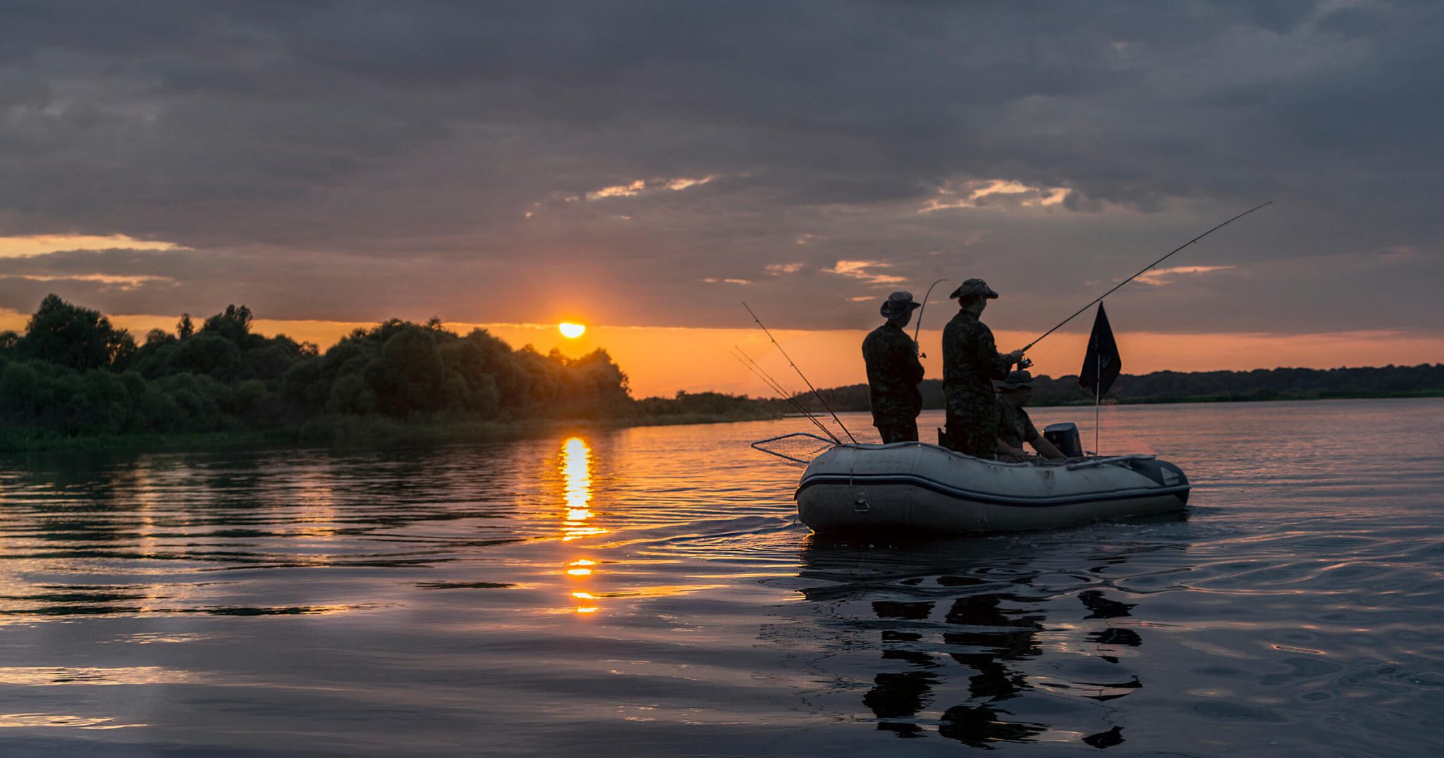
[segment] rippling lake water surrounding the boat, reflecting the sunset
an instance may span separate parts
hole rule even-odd
[[[0,461],[0,751],[1444,749],[1444,401],[1106,409],[1187,517],[915,544],[797,429]]]

